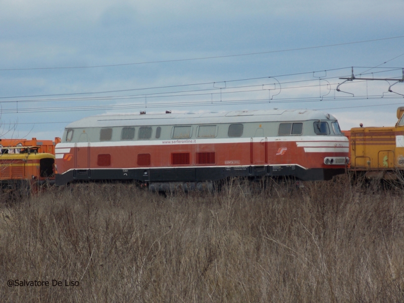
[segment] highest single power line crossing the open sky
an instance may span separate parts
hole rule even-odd
[[[403,38],[403,37],[404,37],[404,36],[396,36],[396,37],[380,38],[380,39],[371,39],[371,40],[363,40],[363,41],[355,41],[355,42],[345,42],[345,43],[327,44],[327,45],[319,45],[319,46],[308,46],[308,47],[298,47],[298,48],[287,48],[287,49],[280,49],[280,50],[278,50],[278,51],[268,51],[268,52],[259,52],[259,53],[247,53],[247,54],[235,54],[235,55],[225,55],[225,56],[212,56],[212,57],[200,57],[200,58],[189,58],[189,59],[174,59],[174,60],[161,60],[161,61],[147,61],[147,62],[123,63],[123,64],[109,64],[109,65],[93,65],[93,66],[10,68],[10,69],[0,69],[0,71],[99,68],[99,67],[117,67],[117,66],[141,65],[141,64],[152,64],[152,63],[168,63],[168,62],[181,62],[181,61],[193,61],[193,60],[208,60],[208,59],[218,59],[218,58],[230,58],[230,57],[241,57],[241,56],[273,54],[273,53],[282,53],[282,52],[291,52],[291,51],[303,51],[303,50],[305,50],[305,49],[314,49],[314,48],[322,48],[322,47],[332,47],[332,46],[340,46],[340,45],[348,45],[348,44],[357,44],[357,43],[365,43],[365,42],[374,42],[374,41],[382,41],[382,40],[389,40],[389,39],[397,39],[397,38]]]

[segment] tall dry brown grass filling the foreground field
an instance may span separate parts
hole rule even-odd
[[[340,178],[164,197],[81,184],[1,207],[4,302],[404,301],[397,190]]]

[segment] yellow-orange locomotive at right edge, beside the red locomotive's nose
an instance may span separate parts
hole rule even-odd
[[[397,109],[397,123],[391,127],[355,127],[349,138],[350,170],[368,179],[396,179],[404,170],[404,107]]]

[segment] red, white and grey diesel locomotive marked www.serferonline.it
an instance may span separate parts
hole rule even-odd
[[[56,145],[56,184],[329,180],[345,171],[348,150],[337,120],[319,111],[93,116],[65,128]]]

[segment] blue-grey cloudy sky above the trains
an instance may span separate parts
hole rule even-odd
[[[404,106],[404,83],[335,90],[351,66],[356,77],[402,76],[402,0],[0,5],[3,137],[53,139],[86,116],[144,110],[306,108],[342,129],[392,126]]]

